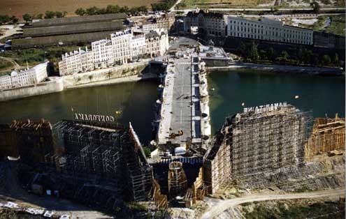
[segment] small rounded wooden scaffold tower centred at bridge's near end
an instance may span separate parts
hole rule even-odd
[[[187,178],[182,169],[182,163],[172,162],[168,165],[168,194],[170,197],[185,194],[187,190]]]

